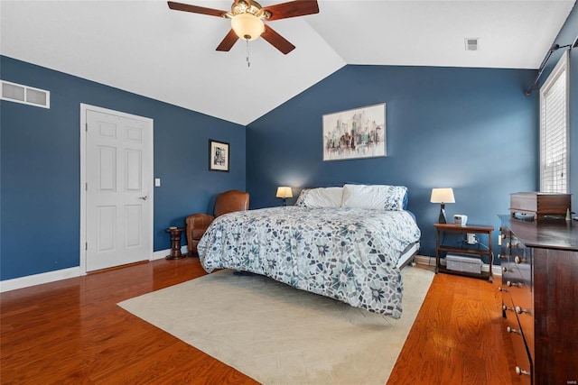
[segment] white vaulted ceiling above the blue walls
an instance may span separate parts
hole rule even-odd
[[[247,125],[346,64],[537,69],[573,5],[320,0],[319,14],[269,23],[294,51],[251,41],[247,67],[245,41],[215,50],[228,20],[164,1],[1,0],[0,53]],[[480,50],[466,51],[465,38]]]

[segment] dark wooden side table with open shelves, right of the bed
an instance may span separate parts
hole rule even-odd
[[[453,224],[434,224],[435,226],[435,273],[442,271],[445,273],[452,273],[463,275],[467,277],[480,278],[482,280],[494,281],[492,274],[492,265],[494,263],[494,254],[491,246],[491,233],[494,231],[494,226],[490,225],[453,225]],[[480,249],[474,247],[445,245],[440,242],[440,234],[444,232],[458,233],[458,234],[486,234],[488,235],[488,249]],[[481,257],[487,255],[489,258],[489,271],[481,271],[480,273],[473,273],[460,270],[449,270],[440,262],[440,254],[442,252],[457,252],[461,255],[468,255],[471,257]]]

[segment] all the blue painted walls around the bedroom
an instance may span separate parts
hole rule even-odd
[[[578,5],[555,42],[576,36]],[[578,211],[577,49],[570,66]],[[228,188],[247,188],[256,208],[279,205],[279,185],[295,193],[346,181],[406,185],[426,255],[439,210],[429,203],[431,188],[454,188],[448,216],[496,228],[511,192],[538,188],[538,93],[524,96],[536,71],[347,66],[247,129],[3,56],[0,71],[4,80],[51,91],[50,110],[0,102],[0,280],[79,266],[80,103],[154,119],[154,177],[163,180],[154,188],[155,251],[169,248],[168,225],[209,212]],[[387,158],[323,162],[322,115],[378,103],[387,103]],[[231,172],[207,170],[209,138],[231,143]]]

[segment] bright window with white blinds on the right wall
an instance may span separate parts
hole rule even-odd
[[[568,192],[568,51],[540,88],[540,191]]]

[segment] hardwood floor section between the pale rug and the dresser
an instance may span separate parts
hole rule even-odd
[[[499,281],[437,274],[387,384],[520,383]]]

